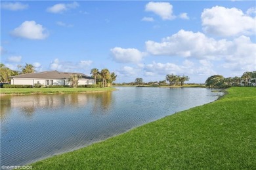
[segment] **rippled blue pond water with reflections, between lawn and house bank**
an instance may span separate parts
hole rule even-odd
[[[25,165],[216,100],[201,88],[1,96],[1,165]]]

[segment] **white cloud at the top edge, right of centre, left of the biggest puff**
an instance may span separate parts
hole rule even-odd
[[[146,4],[145,11],[154,12],[159,15],[163,20],[173,20],[173,5],[165,2],[149,2]]]

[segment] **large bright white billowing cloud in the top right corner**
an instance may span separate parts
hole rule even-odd
[[[256,18],[247,16],[240,9],[212,7],[201,15],[203,31],[219,36],[236,36],[255,33]]]

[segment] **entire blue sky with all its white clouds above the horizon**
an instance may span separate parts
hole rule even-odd
[[[1,1],[1,63],[117,83],[256,70],[255,1]]]

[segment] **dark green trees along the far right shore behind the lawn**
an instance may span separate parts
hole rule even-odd
[[[231,86],[256,86],[256,71],[244,72],[241,77],[223,77],[223,75],[212,75],[205,81],[209,88],[227,88]]]

